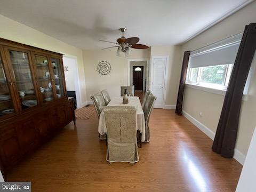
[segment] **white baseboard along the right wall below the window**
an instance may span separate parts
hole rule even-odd
[[[194,117],[189,115],[186,111],[182,110],[182,114],[183,114],[184,117],[186,117],[188,119],[188,121],[193,123],[199,130],[203,131],[209,138],[214,140],[215,133],[212,130],[210,130],[204,124],[202,124],[197,119],[195,119]],[[234,153],[233,158],[236,159],[236,161],[238,161],[241,165],[244,165],[245,157],[246,156],[243,153],[241,153],[241,151],[235,149],[235,153]]]

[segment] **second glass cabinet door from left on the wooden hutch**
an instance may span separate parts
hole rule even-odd
[[[7,50],[21,110],[37,106],[36,90],[27,52]]]

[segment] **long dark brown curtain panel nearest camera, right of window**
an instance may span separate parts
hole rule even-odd
[[[212,146],[213,151],[225,158],[234,155],[243,91],[255,50],[256,23],[251,23],[245,26]]]

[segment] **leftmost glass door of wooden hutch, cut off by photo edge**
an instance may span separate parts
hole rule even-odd
[[[9,84],[5,75],[3,60],[0,55],[0,118],[15,113],[12,99]]]

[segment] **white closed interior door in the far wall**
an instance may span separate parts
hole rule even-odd
[[[166,58],[154,58],[153,66],[153,93],[157,97],[155,108],[164,107],[164,82],[166,70]]]

